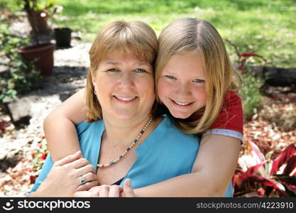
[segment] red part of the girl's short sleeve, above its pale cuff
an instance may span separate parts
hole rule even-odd
[[[243,107],[236,93],[226,92],[222,109],[210,129],[230,129],[243,133]]]

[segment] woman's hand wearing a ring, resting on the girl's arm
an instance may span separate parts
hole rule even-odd
[[[77,191],[98,185],[94,167],[80,158],[81,152],[57,160],[48,177],[35,192],[38,197],[72,197]],[[83,180],[84,179],[84,180]]]

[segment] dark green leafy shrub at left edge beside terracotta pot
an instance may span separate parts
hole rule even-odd
[[[10,102],[18,94],[23,94],[38,87],[40,72],[32,61],[24,60],[18,50],[28,43],[28,38],[12,35],[9,21],[0,18],[0,64],[9,68],[0,75],[0,104]]]

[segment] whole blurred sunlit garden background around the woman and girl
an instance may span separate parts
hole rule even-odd
[[[43,119],[84,87],[102,26],[140,20],[159,35],[182,17],[212,23],[243,78],[234,196],[295,197],[294,0],[1,0],[0,196],[22,197],[33,186],[48,153]]]

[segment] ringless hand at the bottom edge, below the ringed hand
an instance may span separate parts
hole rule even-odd
[[[119,185],[100,185],[88,191],[75,192],[74,197],[135,197],[131,188],[131,179],[124,181],[124,187]]]

